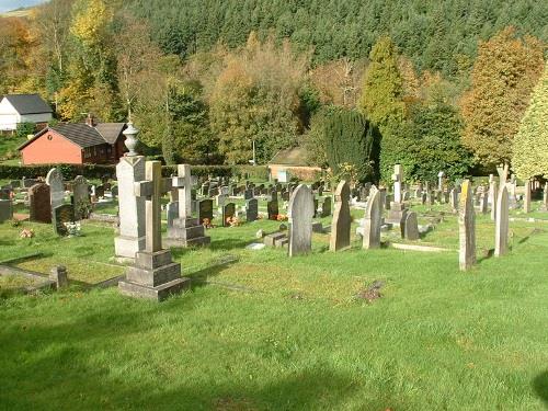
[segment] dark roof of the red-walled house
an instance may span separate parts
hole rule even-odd
[[[100,123],[95,127],[90,127],[85,123],[58,124],[43,129],[32,139],[25,141],[21,147],[19,147],[19,150],[28,146],[47,130],[56,132],[80,148],[88,148],[104,144],[114,145],[124,127],[125,123]]]

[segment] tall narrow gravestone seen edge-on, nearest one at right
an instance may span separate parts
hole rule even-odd
[[[476,264],[476,215],[470,180],[461,185],[458,232],[459,232],[459,267],[466,271]]]

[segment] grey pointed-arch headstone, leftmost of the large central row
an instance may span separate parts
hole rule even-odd
[[[300,184],[292,193],[287,216],[289,218],[289,256],[307,254],[312,250],[312,192]]]

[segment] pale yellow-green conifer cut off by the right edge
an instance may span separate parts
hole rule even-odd
[[[512,167],[517,176],[548,179],[548,65],[533,91],[514,139]]]

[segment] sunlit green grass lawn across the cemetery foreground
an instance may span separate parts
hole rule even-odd
[[[546,409],[548,224],[511,222],[512,251],[495,259],[494,226],[478,216],[479,264],[463,273],[444,210],[419,242],[447,252],[364,251],[354,225],[352,250],[331,253],[315,235],[311,255],[288,259],[244,249],[278,226],[260,220],[173,249],[194,286],[162,304],[78,285],[0,299],[0,408]],[[0,225],[0,261],[41,251],[44,270],[66,262],[69,277],[112,269],[107,226],[72,239],[22,227]],[[355,297],[377,279],[383,298]]]

